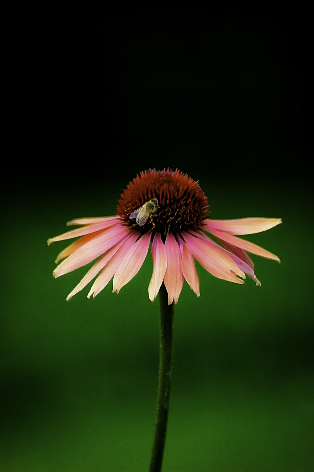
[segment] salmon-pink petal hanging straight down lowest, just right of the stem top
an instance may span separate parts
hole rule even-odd
[[[178,302],[184,281],[181,251],[172,233],[167,234],[165,249],[167,253],[167,269],[163,281],[168,292],[168,305],[171,305],[173,300],[175,304]]]

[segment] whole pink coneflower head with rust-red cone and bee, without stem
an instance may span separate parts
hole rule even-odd
[[[96,276],[88,298],[98,295],[112,277],[113,292],[119,293],[142,267],[152,241],[153,275],[148,286],[152,301],[164,282],[168,304],[177,303],[184,279],[199,296],[194,259],[217,278],[244,284],[248,275],[261,285],[247,252],[280,260],[238,236],[265,231],[281,223],[281,219],[217,220],[209,218],[208,213],[207,197],[186,174],[171,169],[141,172],[121,194],[115,216],[74,219],[68,225],[82,228],[48,240],[51,244],[79,237],[59,253],[56,262],[64,260],[53,275],[57,278],[99,258],[67,300]]]

